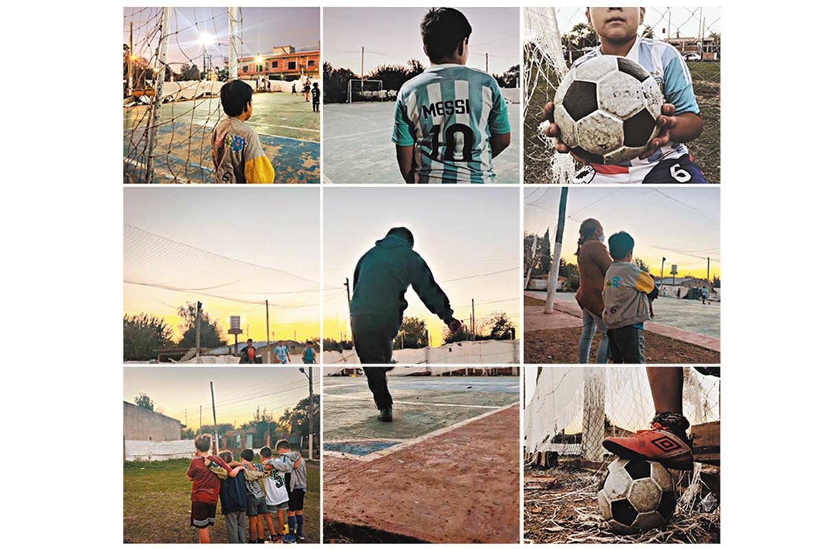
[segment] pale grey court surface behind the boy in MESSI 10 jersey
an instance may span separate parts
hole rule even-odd
[[[509,104],[512,143],[492,165],[496,184],[520,180],[521,105]],[[323,106],[324,183],[403,184],[391,142],[392,101]]]

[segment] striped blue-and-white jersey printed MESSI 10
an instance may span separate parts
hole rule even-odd
[[[433,65],[400,87],[392,142],[414,145],[415,183],[494,183],[489,139],[503,133],[507,106],[486,72]]]

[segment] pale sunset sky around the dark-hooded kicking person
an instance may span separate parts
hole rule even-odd
[[[324,337],[338,340],[341,333],[349,333],[344,278],[352,281],[358,259],[393,226],[412,231],[415,251],[447,293],[457,319],[470,318],[474,298],[479,327],[482,317],[496,311],[506,312],[520,326],[517,189],[438,186],[324,190]],[[480,276],[493,272],[497,274]],[[424,319],[433,345],[440,345],[441,320],[426,309],[411,288],[406,291],[406,300],[410,306],[405,315]]]

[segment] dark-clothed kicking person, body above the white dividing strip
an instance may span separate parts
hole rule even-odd
[[[391,364],[392,342],[404,319],[408,305],[404,295],[410,285],[452,333],[461,328],[461,321],[452,316],[449,298],[413,245],[409,229],[394,227],[358,260],[349,314],[361,364]]]

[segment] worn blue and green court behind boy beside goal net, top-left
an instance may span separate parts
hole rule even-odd
[[[211,135],[225,117],[219,97],[165,103],[155,149],[157,183],[215,183]],[[278,184],[320,183],[321,116],[303,95],[255,94],[246,122],[260,136]],[[124,183],[145,183],[148,107],[124,107]]]

